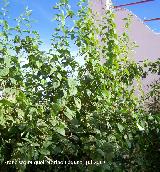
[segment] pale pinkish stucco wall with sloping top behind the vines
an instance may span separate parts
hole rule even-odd
[[[99,19],[102,19],[104,9],[110,6],[109,0],[89,0],[90,7],[98,13]],[[160,34],[153,32],[145,23],[140,20],[136,15],[127,9],[121,8],[114,10],[117,24],[117,33],[121,35],[124,31],[124,18],[132,15],[132,22],[129,29],[129,38],[131,41],[136,42],[139,46],[134,49],[130,58],[137,62],[149,59],[154,61],[160,58]],[[160,78],[159,75],[149,74],[146,78],[142,79],[142,87],[145,92],[149,91],[148,85]]]

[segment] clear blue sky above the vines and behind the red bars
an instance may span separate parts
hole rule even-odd
[[[138,0],[113,0],[115,5],[135,2]],[[10,2],[10,16],[15,18],[21,14],[25,7],[32,9],[32,18],[37,22],[34,23],[33,28],[39,31],[44,42],[48,42],[55,23],[52,21],[54,10],[52,7],[58,0],[9,0]],[[78,0],[70,0],[73,9],[76,8]],[[141,19],[160,17],[160,0],[154,2],[128,6],[126,7]],[[160,21],[152,21],[146,23],[150,28],[156,32],[160,32]]]

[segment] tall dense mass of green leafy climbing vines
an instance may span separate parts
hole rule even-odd
[[[57,28],[49,51],[41,50],[39,34],[30,29],[29,9],[14,27],[7,20],[7,5],[1,14],[1,171],[126,171],[142,166],[135,159],[141,155],[135,145],[144,141],[139,140],[148,126],[133,82],[143,70],[128,60],[128,36],[116,34],[113,12],[106,11],[105,22],[95,25],[83,3],[76,12],[68,0],[54,7]],[[72,21],[73,27],[68,26]],[[76,57],[84,58],[84,65]],[[43,160],[45,165],[22,163]],[[67,164],[49,164],[55,160]],[[85,164],[91,160],[105,163]]]

